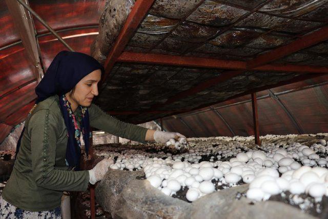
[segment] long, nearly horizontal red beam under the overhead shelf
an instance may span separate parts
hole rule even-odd
[[[154,53],[123,52],[117,58],[117,62],[189,66],[189,67],[199,67],[199,68],[249,70],[247,68],[247,62],[223,60],[223,59],[216,59],[216,58],[163,55],[163,54],[154,54]],[[260,67],[256,67],[253,70],[299,72],[299,73],[328,73],[328,67],[302,66],[302,65],[263,65]]]

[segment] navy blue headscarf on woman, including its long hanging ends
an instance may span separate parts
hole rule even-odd
[[[66,161],[68,162],[69,167],[75,167],[75,170],[77,170],[79,166],[81,151],[74,137],[74,125],[69,117],[67,107],[64,106],[63,98],[61,98],[61,96],[71,91],[83,77],[97,69],[100,69],[101,73],[104,73],[103,66],[101,66],[93,57],[79,52],[61,51],[55,56],[45,76],[35,88],[35,93],[37,95],[35,104],[44,101],[50,96],[59,96],[61,113],[63,114],[69,136],[66,150]],[[23,136],[24,129],[20,135],[19,141],[17,142],[16,155],[19,150],[20,140]],[[90,125],[87,110],[85,116],[82,118],[80,130],[84,130],[83,139],[85,142],[86,153],[88,155]]]

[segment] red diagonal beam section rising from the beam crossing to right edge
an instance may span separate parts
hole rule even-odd
[[[270,52],[259,55],[258,57],[249,61],[247,66],[250,69],[255,68],[257,66],[262,66],[269,62],[275,61],[283,56],[292,54],[293,52],[297,52],[301,49],[305,49],[317,43],[326,41],[327,39],[328,39],[328,26],[322,27],[321,29],[313,33],[305,35],[290,44],[281,46]]]

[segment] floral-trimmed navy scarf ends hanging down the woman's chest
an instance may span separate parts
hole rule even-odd
[[[91,135],[89,126],[89,113],[86,107],[79,106],[81,110],[81,127],[77,125],[75,115],[72,112],[71,104],[65,95],[59,97],[59,105],[64,116],[65,125],[68,132],[68,141],[66,149],[66,165],[70,169],[79,170],[79,162],[81,157],[81,141],[80,132],[83,134],[85,142],[86,154],[89,151],[89,137]]]

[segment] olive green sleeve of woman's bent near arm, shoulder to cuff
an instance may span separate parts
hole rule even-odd
[[[32,173],[39,187],[58,191],[85,191],[89,172],[55,168],[58,120],[49,110],[39,110],[31,117]]]

